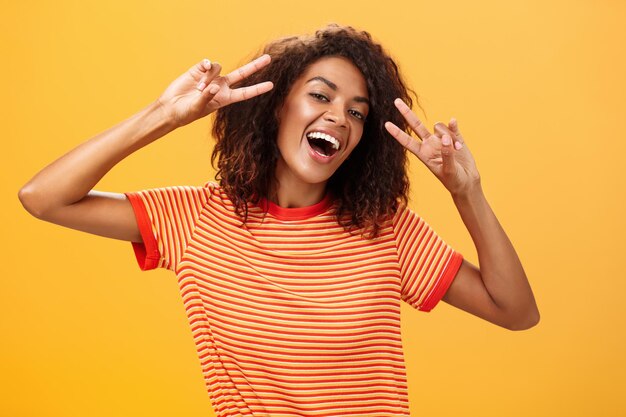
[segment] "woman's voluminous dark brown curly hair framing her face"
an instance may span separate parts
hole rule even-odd
[[[271,92],[220,108],[213,123],[217,140],[211,162],[216,178],[245,223],[248,204],[269,197],[275,181],[279,150],[278,111],[294,82],[322,57],[349,59],[367,83],[370,111],[363,135],[352,154],[335,171],[327,190],[335,199],[337,221],[346,230],[361,230],[374,238],[383,222],[407,203],[409,181],[405,149],[385,129],[391,121],[403,130],[407,125],[393,101],[413,101],[398,66],[372,41],[368,32],[350,26],[328,25],[314,35],[278,39],[262,53],[272,57],[262,70],[234,87],[272,81]],[[217,166],[215,162],[217,160]]]

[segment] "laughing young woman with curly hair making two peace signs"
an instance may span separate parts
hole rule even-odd
[[[401,300],[511,330],[539,321],[458,124],[420,122],[369,34],[329,26],[220,70],[194,65],[19,194],[34,216],[133,242],[142,269],[176,273],[217,415],[408,415]],[[214,111],[217,183],[92,190]],[[451,193],[480,269],[407,208],[406,149]]]

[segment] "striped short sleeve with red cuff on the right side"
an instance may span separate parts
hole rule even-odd
[[[463,256],[448,246],[409,208],[400,207],[393,221],[401,273],[401,296],[420,311],[432,310],[461,267]]]

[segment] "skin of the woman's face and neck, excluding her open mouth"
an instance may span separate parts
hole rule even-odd
[[[296,80],[279,112],[275,203],[305,207],[323,198],[328,179],[361,140],[367,98],[365,78],[346,58],[319,59]],[[311,157],[305,133],[312,130],[324,130],[341,143],[329,162]]]

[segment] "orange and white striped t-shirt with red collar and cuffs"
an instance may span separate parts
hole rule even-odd
[[[408,416],[400,301],[430,311],[462,257],[400,208],[379,237],[329,197],[242,223],[214,183],[126,194],[142,270],[176,273],[218,416]]]

